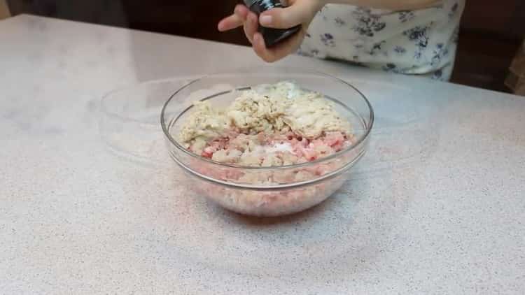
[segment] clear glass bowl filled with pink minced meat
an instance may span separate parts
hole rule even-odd
[[[190,101],[210,101],[225,107],[239,90],[283,80],[320,92],[333,101],[352,124],[353,145],[304,164],[248,167],[200,157],[176,141],[182,122],[193,111]],[[161,113],[169,154],[193,182],[195,192],[229,210],[260,217],[297,213],[336,192],[349,178],[351,167],[365,154],[373,123],[370,102],[352,85],[323,73],[274,66],[217,73],[190,82],[168,99]]]

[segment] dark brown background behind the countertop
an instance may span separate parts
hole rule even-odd
[[[31,13],[248,45],[241,31],[216,25],[236,0],[8,0],[13,15]],[[524,0],[467,0],[452,82],[508,92],[508,67],[525,36]]]

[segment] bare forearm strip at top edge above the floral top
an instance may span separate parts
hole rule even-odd
[[[338,3],[388,10],[414,10],[441,3],[440,0],[320,0],[323,4]]]

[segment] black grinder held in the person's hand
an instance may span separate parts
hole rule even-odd
[[[256,15],[260,15],[266,10],[284,7],[280,0],[244,0],[244,3]],[[275,45],[276,43],[283,41],[289,36],[292,36],[293,34],[297,33],[297,31],[299,31],[300,29],[300,24],[297,24],[297,26],[291,27],[289,29],[273,29],[262,27],[259,24],[258,31],[260,34],[262,34],[262,38],[265,39],[266,47],[269,48]]]

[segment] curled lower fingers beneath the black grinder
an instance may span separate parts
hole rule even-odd
[[[300,31],[276,46],[267,48],[262,34],[255,33],[253,35],[253,51],[265,62],[276,62],[295,52],[295,50],[299,48],[303,38],[304,31]]]

